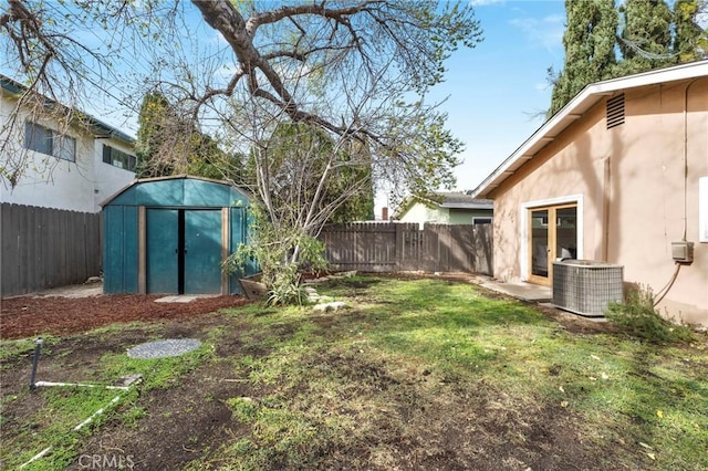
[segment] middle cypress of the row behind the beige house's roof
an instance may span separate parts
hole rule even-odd
[[[676,63],[671,53],[671,10],[664,0],[626,0],[620,8],[622,62],[617,75]]]

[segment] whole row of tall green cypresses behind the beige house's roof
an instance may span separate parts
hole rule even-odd
[[[614,3],[566,0],[565,63],[558,74],[549,69],[553,93],[546,117],[590,83],[706,56],[708,33],[698,24],[706,0],[676,0],[673,12],[664,0]]]

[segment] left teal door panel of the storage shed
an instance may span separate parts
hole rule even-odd
[[[147,209],[148,293],[179,293],[179,210]]]

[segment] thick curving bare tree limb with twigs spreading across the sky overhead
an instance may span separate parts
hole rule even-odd
[[[235,59],[233,73],[225,84],[214,80],[207,70],[208,65],[216,69],[223,64],[206,64],[204,57],[199,64],[186,64],[189,59],[177,52],[179,46],[170,45],[175,31],[185,28],[184,2],[74,0],[72,9],[60,11],[42,0],[10,0],[0,14],[0,29],[8,32],[6,49],[19,57],[22,72],[30,77],[30,87],[44,84],[43,90],[38,88],[41,93],[61,84],[62,92],[77,96],[72,88],[95,76],[84,73],[87,57],[88,67],[106,65],[105,73],[110,74],[107,64],[121,54],[140,55],[140,61],[150,60],[152,70],[169,71],[154,75],[159,75],[163,88],[171,85],[183,104],[192,104],[195,119],[222,108],[243,86],[251,97],[280,109],[292,121],[310,122],[339,135],[356,135],[397,157],[406,149],[391,135],[392,126],[378,123],[377,128],[365,127],[353,113],[337,115],[326,107],[310,106],[312,87],[303,84],[317,82],[322,96],[330,102],[337,100],[343,90],[347,91],[346,100],[360,102],[372,95],[374,100],[397,96],[403,106],[391,109],[389,119],[385,119],[388,122],[397,114],[409,114],[412,108],[405,103],[415,95],[425,95],[429,86],[442,80],[444,61],[452,50],[459,44],[473,46],[480,40],[471,7],[461,4],[382,0],[192,3],[205,22],[221,34]],[[112,48],[83,45],[73,39],[66,22],[84,30],[92,22],[103,27],[111,32],[107,38]],[[116,39],[118,31],[123,36]],[[352,108],[363,112],[355,103]],[[427,119],[425,112],[418,115]],[[459,150],[459,146],[448,150]],[[420,158],[425,156],[414,160]],[[424,182],[449,182],[450,167],[456,161],[436,164],[439,169],[433,175],[420,175],[425,166],[417,166],[417,170],[399,166],[398,170],[410,172],[415,178],[405,180],[423,188],[428,186]],[[429,178],[436,174],[442,178]]]

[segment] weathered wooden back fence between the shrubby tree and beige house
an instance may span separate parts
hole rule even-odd
[[[366,272],[492,273],[491,224],[355,222],[324,228],[330,263]]]

